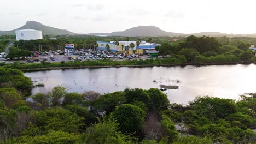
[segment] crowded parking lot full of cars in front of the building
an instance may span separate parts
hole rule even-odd
[[[125,55],[118,54],[116,55],[113,52],[107,52],[103,50],[84,50],[84,51],[75,51],[73,52],[73,57],[71,57],[71,53],[68,53],[68,55],[55,55],[57,54],[55,51],[48,52],[48,55],[38,55],[38,57],[28,57],[27,59],[31,59],[34,63],[38,63],[40,61],[43,61],[43,59],[47,58],[48,62],[61,62],[61,61],[97,61],[101,59],[112,59],[113,61],[125,61],[125,60],[131,60],[131,59],[148,59],[148,55],[139,56],[138,55]],[[54,61],[51,59],[51,56],[53,56]],[[5,59],[0,58],[0,62],[7,62],[7,63],[13,63],[15,61],[19,62],[27,62],[26,60],[20,60],[20,59]],[[34,61],[36,60],[36,61]],[[38,61],[37,61],[38,60]]]

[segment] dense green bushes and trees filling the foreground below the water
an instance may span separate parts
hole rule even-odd
[[[256,142],[256,94],[179,105],[156,88],[101,95],[56,86],[25,100],[20,90],[31,80],[20,70],[0,71],[0,143]]]

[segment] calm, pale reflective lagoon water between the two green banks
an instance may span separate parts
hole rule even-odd
[[[238,99],[239,94],[256,92],[256,65],[211,65],[204,67],[97,68],[47,70],[25,73],[35,85],[32,93],[48,92],[65,85],[68,92],[96,91],[102,94],[125,88],[160,88],[176,85],[179,89],[164,91],[171,103],[187,104],[196,96]]]

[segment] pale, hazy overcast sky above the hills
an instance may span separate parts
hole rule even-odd
[[[137,26],[176,33],[256,33],[255,0],[0,0],[0,5],[3,31],[30,20],[75,33]]]

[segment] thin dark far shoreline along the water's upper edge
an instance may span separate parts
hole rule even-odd
[[[97,69],[97,68],[147,68],[147,67],[185,67],[192,66],[210,66],[210,65],[236,65],[236,64],[256,64],[256,62],[226,62],[226,63],[183,63],[183,64],[160,64],[160,65],[95,65],[95,66],[74,66],[74,67],[46,67],[46,68],[33,68],[33,69],[20,69],[23,72],[31,71],[45,71],[45,70],[57,70],[57,69]]]

